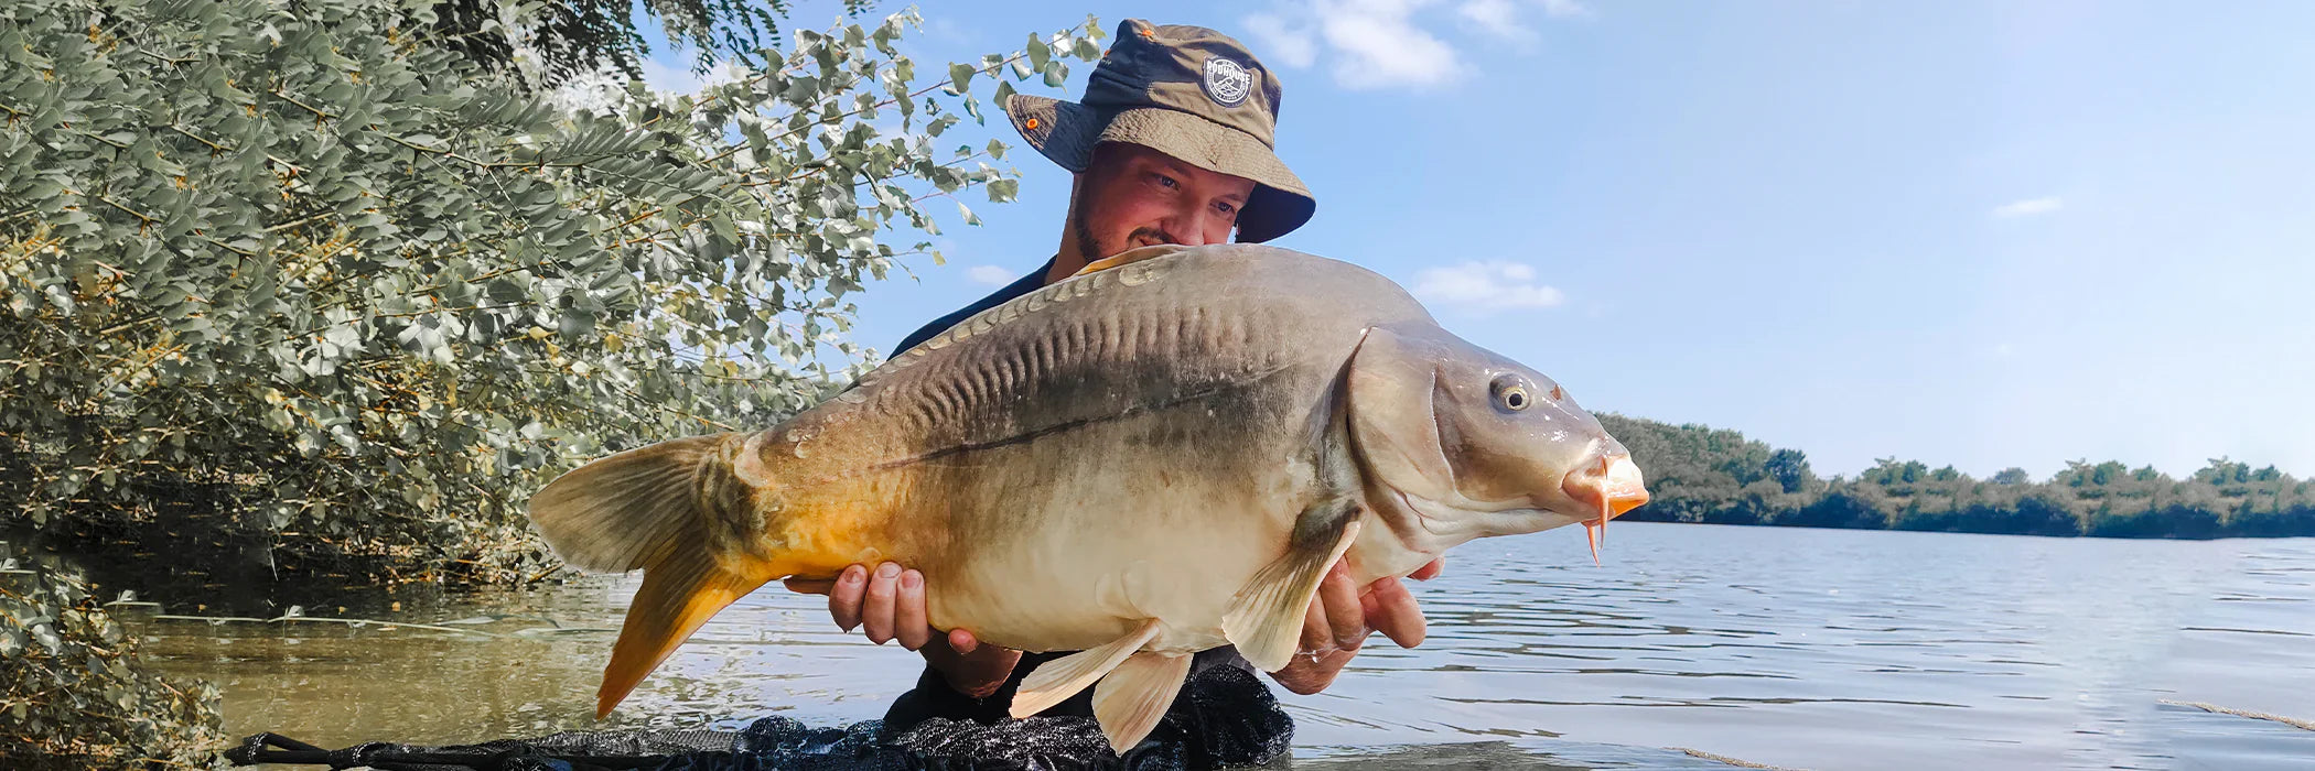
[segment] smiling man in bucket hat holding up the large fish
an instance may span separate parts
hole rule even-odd
[[[1308,222],[1317,201],[1271,150],[1278,97],[1278,79],[1236,39],[1137,19],[1118,25],[1083,104],[1014,95],[1005,111],[1021,137],[1076,174],[1060,250],[1039,271],[926,324],[894,354],[1130,248],[1225,243],[1232,232],[1239,241],[1259,243]],[[1438,570],[1431,563],[1414,577],[1428,579]],[[845,630],[866,627],[875,644],[898,639],[924,653],[928,669],[917,690],[894,704],[887,729],[935,715],[1000,720],[1021,676],[1063,655],[1023,658],[1021,651],[982,646],[970,630],[938,634],[926,623],[924,577],[903,565],[852,565],[836,581],[787,586],[829,595],[829,611]],[[1377,630],[1408,648],[1421,644],[1424,618],[1414,597],[1396,579],[1354,586],[1336,565],[1303,618],[1303,655],[1271,678],[1301,695],[1320,692]],[[1192,678],[1215,664],[1250,669],[1225,646],[1199,653]],[[1259,683],[1252,688],[1259,690]],[[1086,702],[1079,695],[1046,713],[1086,715]]]

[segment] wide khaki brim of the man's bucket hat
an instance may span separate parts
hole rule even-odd
[[[1206,171],[1255,181],[1239,211],[1239,241],[1262,243],[1310,222],[1317,199],[1269,146],[1241,130],[1158,107],[1104,113],[1053,97],[1012,95],[1005,104],[1021,139],[1070,171],[1093,164],[1102,141],[1139,144]]]

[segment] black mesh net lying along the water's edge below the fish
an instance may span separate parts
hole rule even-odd
[[[1123,757],[1109,750],[1100,725],[1081,715],[993,725],[931,718],[905,732],[887,732],[882,720],[808,727],[789,718],[762,718],[738,732],[565,732],[444,748],[373,741],[343,750],[257,734],[227,757],[243,766],[269,762],[387,771],[1155,771],[1266,764],[1285,755],[1292,739],[1294,720],[1255,674],[1211,667],[1183,683],[1158,729]]]

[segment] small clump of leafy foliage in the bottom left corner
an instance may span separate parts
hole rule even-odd
[[[0,766],[206,764],[225,743],[218,690],[141,667],[79,577],[0,542]]]

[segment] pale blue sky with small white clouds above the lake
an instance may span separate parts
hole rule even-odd
[[[1245,42],[1320,201],[1273,245],[1398,280],[1588,410],[1820,475],[2315,477],[2315,2],[935,2],[903,49],[945,72],[1088,12]],[[958,130],[1014,146],[1021,197],[965,197],[947,264],[854,296],[880,352],[1060,241],[1070,176],[1002,116]]]

